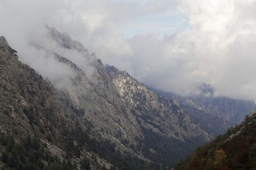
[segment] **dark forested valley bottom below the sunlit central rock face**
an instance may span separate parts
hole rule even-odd
[[[153,164],[154,168],[174,166],[183,157],[191,154],[196,147],[205,143],[203,137],[196,137],[184,142],[174,137],[159,135],[146,128],[143,128],[143,130],[145,142],[142,152],[148,159],[161,162],[161,164]],[[190,150],[187,148],[190,148]]]

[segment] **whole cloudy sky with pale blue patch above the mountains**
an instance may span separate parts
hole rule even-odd
[[[255,13],[256,0],[0,0],[0,35],[28,62],[31,42],[55,27],[155,89],[191,96],[206,83],[255,100]]]

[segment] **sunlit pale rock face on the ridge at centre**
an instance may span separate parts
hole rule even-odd
[[[107,70],[122,101],[129,108],[129,112],[139,120],[141,127],[151,128],[161,135],[182,140],[199,134],[210,140],[207,132],[193,123],[189,115],[179,106],[178,101],[159,96],[130,77],[127,72],[120,72],[114,67],[107,67]]]

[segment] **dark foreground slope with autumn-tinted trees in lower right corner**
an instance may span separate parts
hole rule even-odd
[[[235,128],[203,147],[174,169],[255,169],[256,112],[247,115]]]

